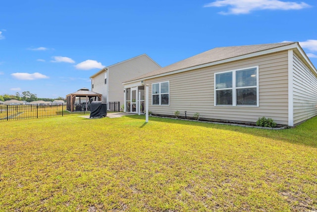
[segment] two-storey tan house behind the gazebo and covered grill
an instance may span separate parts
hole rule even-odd
[[[108,66],[92,75],[92,91],[102,94],[104,102],[124,102],[122,82],[161,68],[146,54]]]

